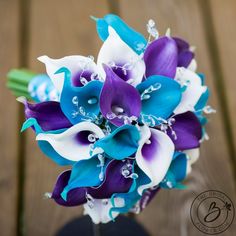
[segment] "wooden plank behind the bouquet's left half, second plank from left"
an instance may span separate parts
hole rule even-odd
[[[100,40],[90,15],[107,12],[106,2],[95,0],[32,0],[30,10],[29,68],[44,72],[36,60],[40,55],[60,58],[67,55],[94,55]],[[71,218],[82,214],[82,208],[65,208],[43,195],[53,189],[57,175],[63,170],[45,157],[37,147],[33,132],[27,133],[25,232],[26,235],[54,235]]]

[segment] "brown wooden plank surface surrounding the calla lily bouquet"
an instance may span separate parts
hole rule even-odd
[[[43,194],[62,171],[40,152],[34,134],[19,134],[22,109],[5,88],[13,67],[43,72],[36,58],[81,54],[96,56],[101,41],[90,15],[119,13],[146,33],[148,19],[159,31],[197,47],[199,72],[206,74],[210,104],[217,114],[207,126],[210,140],[186,181],[187,190],[163,190],[137,216],[151,235],[203,235],[189,217],[193,198],[216,189],[234,201],[236,168],[236,1],[235,0],[0,0],[0,235],[54,235],[82,208],[63,208]],[[236,221],[222,235],[233,235]],[[235,235],[235,234],[234,234]]]

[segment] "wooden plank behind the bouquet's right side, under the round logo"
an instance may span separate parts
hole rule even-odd
[[[228,194],[231,199],[235,199],[223,120],[219,114],[221,109],[205,38],[205,23],[200,11],[198,1],[120,1],[121,16],[140,32],[147,35],[146,22],[153,19],[162,34],[170,27],[172,35],[183,37],[197,47],[198,71],[206,74],[206,81],[212,92],[210,104],[218,110],[216,115],[210,117],[207,127],[210,140],[201,147],[200,159],[186,181],[188,189],[161,191],[150,206],[138,216],[139,221],[153,236],[203,235],[192,225],[189,211],[194,197],[204,190],[220,190]],[[235,230],[234,224],[222,235],[233,235]]]

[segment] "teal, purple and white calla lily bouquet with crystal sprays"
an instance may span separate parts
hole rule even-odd
[[[28,76],[34,103],[18,100],[22,131],[32,127],[42,152],[68,166],[47,197],[83,205],[94,223],[107,223],[141,212],[162,188],[185,188],[207,139],[204,113],[214,110],[186,41],[170,30],[160,36],[153,20],[146,39],[116,15],[92,18],[103,41],[97,63],[41,56],[47,75]],[[11,84],[14,71],[9,77]]]

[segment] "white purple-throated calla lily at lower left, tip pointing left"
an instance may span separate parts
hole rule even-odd
[[[92,136],[94,140],[89,140],[89,136]],[[80,161],[91,157],[90,145],[95,142],[96,138],[103,137],[104,134],[97,125],[81,122],[59,134],[39,133],[36,140],[48,142],[59,155],[67,160]]]

